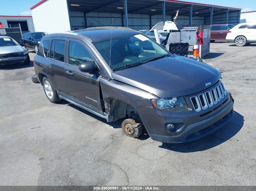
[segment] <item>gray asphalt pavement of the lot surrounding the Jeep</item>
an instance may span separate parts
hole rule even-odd
[[[210,47],[204,62],[222,72],[235,116],[180,144],[129,138],[120,120],[49,102],[32,61],[1,67],[0,185],[256,185],[256,44]]]

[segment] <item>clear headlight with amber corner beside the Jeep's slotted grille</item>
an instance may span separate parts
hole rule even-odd
[[[183,97],[161,98],[151,100],[156,109],[162,111],[185,110],[188,106]]]

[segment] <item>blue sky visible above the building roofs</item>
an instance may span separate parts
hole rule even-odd
[[[30,7],[41,0],[0,0],[0,15],[31,15]],[[57,0],[55,0],[57,1]],[[99,0],[100,1],[100,0]],[[129,1],[129,0],[128,0]],[[226,7],[241,8],[242,11],[256,11],[254,0],[188,0],[190,2],[205,3],[211,5],[221,5]],[[254,3],[253,3],[254,2]]]

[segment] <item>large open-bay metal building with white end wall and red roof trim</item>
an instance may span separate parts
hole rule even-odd
[[[35,31],[59,32],[97,26],[150,29],[176,19],[182,25],[237,24],[240,8],[177,0],[42,0],[30,8]],[[112,23],[113,21],[113,23]]]

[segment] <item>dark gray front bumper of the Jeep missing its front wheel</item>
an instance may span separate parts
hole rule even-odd
[[[167,112],[165,116],[159,115],[154,108],[149,107],[138,107],[137,111],[153,140],[165,143],[189,142],[216,131],[232,119],[234,116],[233,102],[229,93],[226,97],[225,103],[216,105],[217,109],[212,108],[214,111],[206,115],[203,114],[203,117],[193,110]],[[181,123],[184,124],[184,127],[176,134],[170,133],[165,129],[165,125],[168,123]]]

